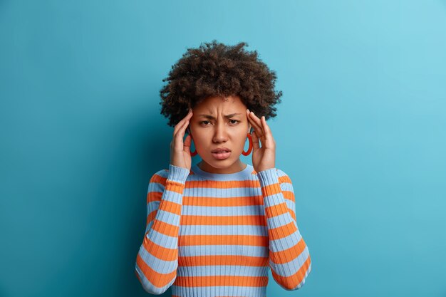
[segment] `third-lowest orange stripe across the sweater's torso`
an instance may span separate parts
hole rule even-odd
[[[178,246],[242,245],[268,246],[269,237],[259,235],[182,235]]]

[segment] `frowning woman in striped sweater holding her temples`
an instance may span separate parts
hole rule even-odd
[[[149,293],[172,286],[172,296],[266,296],[268,269],[286,290],[301,288],[311,271],[291,179],[276,168],[266,124],[281,92],[245,45],[189,48],[160,91],[162,113],[176,125],[169,169],[149,182],[135,264]],[[251,150],[252,165],[244,164],[240,154]]]

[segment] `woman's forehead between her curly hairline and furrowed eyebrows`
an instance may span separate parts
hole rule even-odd
[[[247,109],[246,105],[242,103],[239,96],[228,96],[228,97],[209,97],[204,99],[202,102],[195,106],[195,112],[206,112],[209,114],[218,113],[221,110],[225,111],[244,111]]]

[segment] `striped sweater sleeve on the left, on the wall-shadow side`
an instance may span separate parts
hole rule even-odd
[[[182,196],[190,170],[169,165],[153,174],[147,189],[147,223],[135,274],[148,293],[160,295],[177,277]]]

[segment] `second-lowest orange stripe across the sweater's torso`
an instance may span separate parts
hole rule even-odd
[[[180,266],[211,266],[243,265],[251,267],[265,267],[269,264],[269,257],[239,256],[239,255],[206,255],[206,256],[179,256]]]

